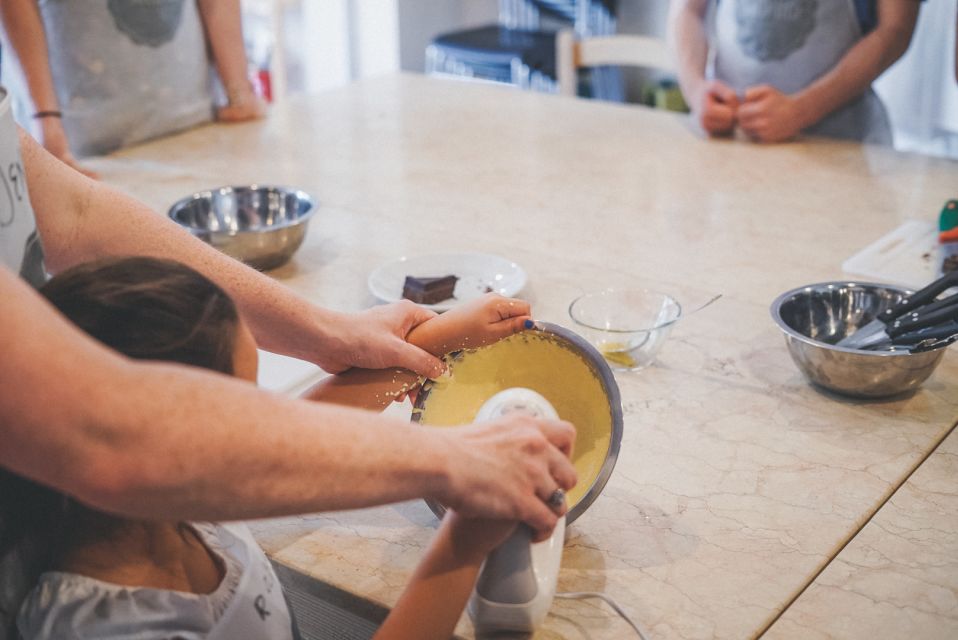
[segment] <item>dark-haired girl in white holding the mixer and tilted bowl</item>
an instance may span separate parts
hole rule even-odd
[[[184,265],[113,259],[65,271],[41,292],[129,357],[256,380],[256,343],[232,300]],[[516,333],[528,311],[527,303],[487,296],[416,333],[420,344],[444,353]],[[324,381],[311,398],[380,406],[370,390],[395,396],[409,389],[411,376],[351,370]],[[278,579],[241,525],[119,518],[7,472],[0,476],[0,516],[19,525],[0,547],[28,541],[44,552],[37,567],[43,573],[18,616],[24,640],[296,637]],[[483,558],[514,526],[449,512],[376,637],[450,637]]]

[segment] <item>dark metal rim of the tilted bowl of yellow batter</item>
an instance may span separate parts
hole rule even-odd
[[[536,331],[541,333],[548,333],[559,338],[562,338],[568,342],[571,342],[573,345],[578,347],[580,351],[584,351],[588,354],[588,361],[595,365],[596,373],[599,376],[599,380],[602,383],[602,386],[606,390],[606,394],[609,398],[609,407],[612,410],[612,434],[609,438],[609,450],[606,453],[605,460],[602,462],[602,466],[599,468],[599,473],[596,474],[595,482],[592,483],[592,486],[589,487],[588,491],[582,496],[582,499],[576,504],[569,512],[566,514],[566,523],[572,524],[581,516],[586,509],[588,509],[596,498],[599,497],[599,494],[602,493],[602,490],[605,489],[605,485],[608,484],[609,478],[612,477],[612,471],[615,469],[615,464],[619,459],[619,449],[622,445],[622,434],[624,432],[624,418],[622,414],[622,395],[619,392],[619,385],[615,381],[615,376],[612,373],[611,367],[605,361],[605,358],[602,357],[602,354],[592,346],[592,344],[575,333],[571,329],[567,329],[557,324],[552,324],[551,322],[536,322],[536,328],[531,329],[530,331]],[[414,406],[414,411],[412,414],[412,421],[419,423],[419,420],[422,416],[422,410],[425,408],[426,399],[429,396],[428,390],[423,390],[416,397],[416,404]],[[438,517],[442,517],[442,514],[445,512],[445,507],[434,500],[426,500],[426,504],[429,505],[429,508],[434,514]]]

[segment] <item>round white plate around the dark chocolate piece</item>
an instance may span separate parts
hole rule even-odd
[[[526,284],[526,272],[511,260],[488,253],[434,253],[406,256],[389,262],[369,274],[369,291],[384,302],[402,300],[406,276],[459,278],[453,297],[437,304],[420,305],[433,311],[448,311],[478,298],[488,289],[512,297]]]

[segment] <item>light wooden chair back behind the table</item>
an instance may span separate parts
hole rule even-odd
[[[556,78],[559,93],[576,95],[580,67],[650,67],[675,72],[675,62],[664,40],[648,36],[615,35],[576,40],[571,30],[556,34]]]

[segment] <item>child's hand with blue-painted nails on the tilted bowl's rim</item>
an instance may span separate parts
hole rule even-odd
[[[529,303],[487,293],[415,327],[406,340],[437,356],[492,344],[531,320]]]

